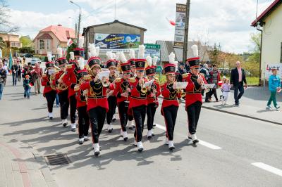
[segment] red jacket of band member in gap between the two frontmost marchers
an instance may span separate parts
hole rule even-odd
[[[129,79],[125,80],[125,79],[116,79],[116,86],[114,89],[114,96],[116,96],[118,98],[117,103],[121,103],[123,101],[126,101],[126,98],[121,96],[121,93],[125,93],[126,90],[130,88],[129,86]],[[128,95],[130,95],[130,92],[128,92]],[[127,98],[127,100],[129,101],[129,96]]]

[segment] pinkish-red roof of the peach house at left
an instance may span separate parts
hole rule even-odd
[[[75,30],[68,27],[63,27],[61,25],[50,25],[49,27],[40,30],[39,33],[42,32],[53,32],[53,34],[59,39],[59,41],[63,42],[67,42],[69,38],[75,38]]]

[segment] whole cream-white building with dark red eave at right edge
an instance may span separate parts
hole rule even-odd
[[[267,67],[282,68],[282,0],[275,0],[252,22],[252,26],[262,29],[261,78],[265,79],[268,77]]]

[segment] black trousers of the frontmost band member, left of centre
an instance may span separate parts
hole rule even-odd
[[[96,107],[88,111],[90,118],[92,142],[99,143],[99,136],[104,126],[106,119],[106,108]]]

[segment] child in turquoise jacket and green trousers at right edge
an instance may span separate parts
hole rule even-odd
[[[280,108],[276,102],[276,93],[281,91],[281,80],[278,75],[278,70],[276,68],[272,69],[272,75],[269,76],[269,91],[270,91],[270,98],[269,102],[267,102],[267,109],[271,108],[271,102],[274,103],[274,107],[276,109]]]

